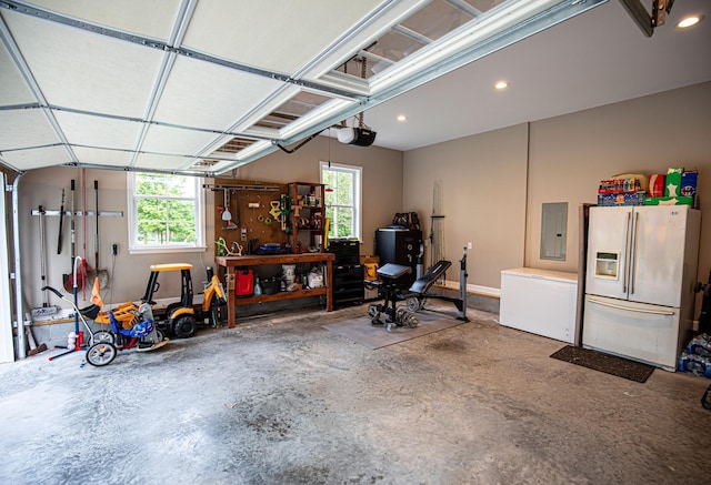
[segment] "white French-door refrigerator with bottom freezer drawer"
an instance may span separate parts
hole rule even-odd
[[[691,337],[701,213],[591,208],[582,345],[677,370]]]

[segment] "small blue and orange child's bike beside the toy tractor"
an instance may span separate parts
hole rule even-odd
[[[87,362],[93,366],[109,365],[118,351],[136,348],[137,352],[153,351],[166,345],[169,340],[153,323],[153,312],[148,303],[137,306],[123,303],[96,317],[97,323],[110,323],[111,331],[103,331],[87,350]]]

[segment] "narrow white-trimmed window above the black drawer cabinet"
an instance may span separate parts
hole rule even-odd
[[[326,216],[331,220],[329,238],[357,238],[361,233],[360,166],[321,162],[321,183],[326,185]]]

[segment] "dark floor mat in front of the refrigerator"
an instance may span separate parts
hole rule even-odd
[[[572,345],[554,352],[551,357],[641,383],[645,382],[654,371],[651,365]]]

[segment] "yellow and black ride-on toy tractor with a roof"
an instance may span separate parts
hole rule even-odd
[[[227,299],[224,289],[218,276],[214,275],[212,267],[208,266],[208,283],[203,292],[204,299],[198,310],[192,304],[193,292],[190,276],[192,264],[152,264],[150,267],[151,274],[148,280],[148,286],[146,286],[146,294],[141,301],[151,306],[156,304],[153,294],[160,287],[158,276],[164,272],[180,271],[180,301],[169,304],[164,313],[153,311],[156,324],[159,329],[176,335],[178,339],[187,339],[196,333],[198,323],[203,323],[206,320],[213,327],[220,325],[220,306],[227,304]]]

